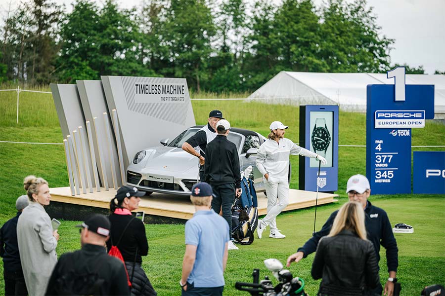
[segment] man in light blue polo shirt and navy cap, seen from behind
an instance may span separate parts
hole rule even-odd
[[[185,223],[185,254],[179,285],[182,296],[223,295],[229,226],[210,206],[212,187],[201,182],[192,187],[193,218]]]

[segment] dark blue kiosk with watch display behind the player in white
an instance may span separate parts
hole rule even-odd
[[[334,192],[338,185],[338,106],[300,106],[300,146],[320,154],[320,192]],[[319,161],[300,156],[299,189],[317,191]]]

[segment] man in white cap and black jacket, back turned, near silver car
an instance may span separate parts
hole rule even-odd
[[[218,136],[207,144],[206,162],[203,181],[213,187],[216,197],[212,200],[212,209],[219,213],[229,224],[229,235],[232,229],[232,204],[236,195],[241,195],[241,173],[236,145],[227,140],[230,123],[222,119],[217,123]],[[229,242],[229,250],[237,249]]]

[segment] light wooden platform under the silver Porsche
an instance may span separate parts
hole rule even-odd
[[[116,189],[106,191],[100,188],[100,192],[87,193],[81,195],[71,195],[70,187],[51,188],[51,201],[63,204],[73,204],[87,207],[109,209],[110,200],[115,196]],[[334,197],[337,194],[318,193],[318,204],[327,204],[337,201]],[[309,208],[315,206],[316,192],[304,190],[289,190],[289,205],[284,211]],[[145,215],[154,215],[159,217],[169,217],[180,220],[188,220],[193,217],[195,209],[186,196],[172,196],[160,193],[152,193],[149,196],[142,196],[138,211],[143,211]],[[266,215],[267,197],[264,193],[258,194],[258,213]],[[60,217],[60,215],[57,215]],[[52,217],[52,216],[51,216]],[[61,217],[63,218],[63,217]]]

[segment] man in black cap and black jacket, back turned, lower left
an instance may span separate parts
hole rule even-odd
[[[108,218],[96,214],[77,227],[82,227],[82,249],[60,257],[46,295],[130,295],[124,263],[107,255]]]

